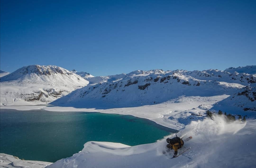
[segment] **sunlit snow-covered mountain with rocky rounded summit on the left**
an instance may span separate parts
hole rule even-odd
[[[88,85],[88,81],[57,66],[30,65],[0,78],[0,104],[50,103]]]

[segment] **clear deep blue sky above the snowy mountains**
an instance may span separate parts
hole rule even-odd
[[[256,65],[256,1],[1,0],[0,69],[94,76]]]

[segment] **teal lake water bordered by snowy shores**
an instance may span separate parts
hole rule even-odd
[[[153,143],[172,132],[155,122],[130,115],[0,111],[0,153],[25,160],[55,162],[78,153],[88,141],[134,146]]]

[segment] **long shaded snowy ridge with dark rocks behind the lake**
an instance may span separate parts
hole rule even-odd
[[[101,77],[99,83],[73,91],[51,104],[85,108],[134,107],[158,104],[179,96],[231,95],[249,84],[255,85],[256,82],[256,77],[248,74],[231,75],[216,70],[209,76],[208,74],[205,71],[138,70],[109,76],[104,81]],[[221,77],[218,77],[219,74]],[[234,76],[240,80],[232,79]]]

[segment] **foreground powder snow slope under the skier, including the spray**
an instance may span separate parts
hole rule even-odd
[[[172,137],[174,135],[170,135]],[[81,152],[61,159],[47,168],[82,167],[254,167],[256,164],[256,120],[247,123],[225,123],[222,117],[193,121],[178,133],[192,136],[177,158],[166,151],[166,140],[138,146],[94,142],[84,144]]]

